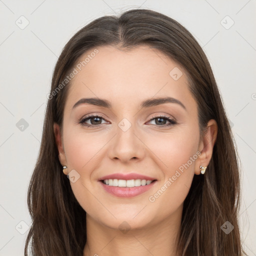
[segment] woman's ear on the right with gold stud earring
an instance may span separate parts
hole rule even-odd
[[[217,138],[217,129],[217,122],[214,119],[210,119],[199,142],[198,150],[201,154],[196,159],[194,171],[196,175],[200,174],[200,165],[206,167],[210,162],[213,146]]]

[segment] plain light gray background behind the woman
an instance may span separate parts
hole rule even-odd
[[[31,223],[27,186],[62,47],[89,21],[139,6],[179,21],[208,56],[241,159],[243,246],[256,255],[256,0],[0,0],[1,256],[23,255]],[[28,123],[23,131],[16,126],[21,118]]]

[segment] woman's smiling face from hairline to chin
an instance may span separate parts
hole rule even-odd
[[[59,159],[91,219],[110,228],[150,228],[181,215],[203,165],[196,102],[182,67],[161,51],[146,45],[97,50],[77,61],[90,56],[71,80]],[[156,104],[165,97],[170,100]]]

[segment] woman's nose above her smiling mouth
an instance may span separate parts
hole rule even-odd
[[[126,131],[117,127],[116,134],[108,148],[108,156],[122,162],[128,162],[131,159],[141,160],[145,154],[145,144],[137,133],[133,125]]]

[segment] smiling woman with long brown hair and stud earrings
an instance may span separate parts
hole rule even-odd
[[[243,253],[230,126],[177,21],[132,9],[90,22],[47,98],[25,255],[30,239],[36,256]]]

